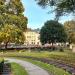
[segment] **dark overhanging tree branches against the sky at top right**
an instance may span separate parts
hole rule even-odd
[[[42,7],[53,7],[56,18],[67,13],[75,13],[75,0],[36,0]]]

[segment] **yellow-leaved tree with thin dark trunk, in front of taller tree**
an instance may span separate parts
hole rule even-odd
[[[23,43],[24,35],[23,32],[15,25],[4,25],[0,31],[0,40],[5,43],[5,48],[7,49],[8,43]]]

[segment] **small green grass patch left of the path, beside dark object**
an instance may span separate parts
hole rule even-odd
[[[27,71],[17,63],[11,63],[11,70],[13,75],[28,75]]]

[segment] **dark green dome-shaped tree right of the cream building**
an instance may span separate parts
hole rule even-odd
[[[42,44],[66,42],[67,35],[62,24],[57,21],[47,21],[40,31],[40,40]]]

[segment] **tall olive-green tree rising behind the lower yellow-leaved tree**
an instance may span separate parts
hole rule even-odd
[[[0,25],[14,24],[25,31],[28,19],[23,12],[24,8],[20,0],[0,0]]]

